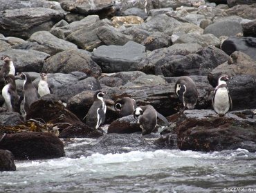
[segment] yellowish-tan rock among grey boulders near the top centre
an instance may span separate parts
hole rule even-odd
[[[124,17],[113,17],[112,18],[112,25],[115,28],[119,28],[120,26],[127,26],[131,24],[141,24],[144,20],[138,16],[129,15]]]

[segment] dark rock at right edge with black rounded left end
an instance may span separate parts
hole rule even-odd
[[[228,55],[235,51],[241,51],[256,61],[256,37],[229,37],[223,41],[221,50]]]

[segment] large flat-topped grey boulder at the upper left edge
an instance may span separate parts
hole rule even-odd
[[[21,8],[0,12],[0,33],[28,39],[37,31],[50,31],[64,14],[49,8]]]

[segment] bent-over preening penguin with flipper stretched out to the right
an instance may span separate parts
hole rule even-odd
[[[151,133],[156,128],[157,118],[169,125],[165,116],[157,112],[152,105],[139,106],[134,110],[134,119],[138,120],[143,135]]]

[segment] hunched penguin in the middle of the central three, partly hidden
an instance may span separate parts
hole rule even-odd
[[[115,110],[119,112],[120,117],[134,113],[137,108],[136,101],[130,97],[122,97],[115,102]]]

